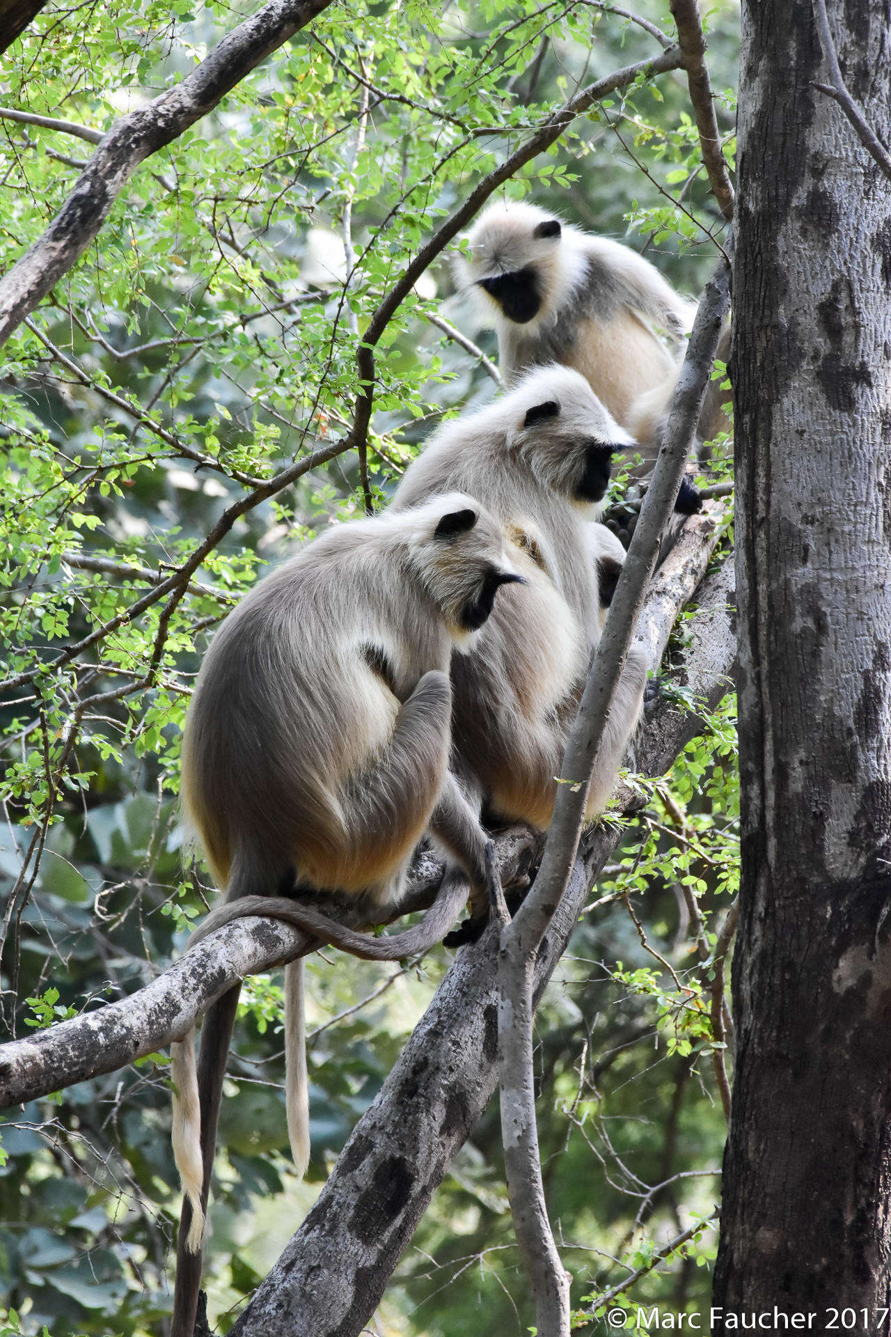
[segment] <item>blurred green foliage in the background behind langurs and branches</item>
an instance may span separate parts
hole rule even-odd
[[[248,12],[191,0],[51,3],[8,52],[0,104],[104,132]],[[644,0],[640,13],[672,33],[667,5]],[[719,4],[708,24],[732,162],[735,5]],[[227,507],[346,436],[361,332],[406,255],[468,189],[577,87],[659,49],[625,11],[594,0],[334,4],[143,164],[98,241],[7,345],[7,1036],[130,993],[182,951],[212,894],[202,866],[183,862],[176,814],[180,725],[200,655],[263,567],[361,512],[355,455],[247,509],[174,596],[136,615],[134,604]],[[91,143],[0,115],[0,152],[5,269],[59,209]],[[680,74],[608,99],[505,194],[627,239],[688,293],[713,263],[719,218]],[[494,389],[430,317],[494,357],[442,257],[379,348],[367,459],[375,505],[443,412]],[[729,701],[652,787],[538,1013],[546,1187],[580,1312],[717,1201],[724,1116],[703,991],[733,892],[736,816]],[[403,967],[335,952],[311,960],[303,1185],[287,1159],[281,981],[247,983],[211,1210],[210,1313],[220,1332],[302,1219],[446,968],[445,952]],[[156,1055],[7,1115],[0,1333],[163,1330],[179,1210],[166,1063]],[[632,1297],[701,1308],[711,1245],[705,1230]],[[490,1108],[374,1330],[522,1333],[525,1290]]]

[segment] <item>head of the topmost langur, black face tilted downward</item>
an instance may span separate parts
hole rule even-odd
[[[470,254],[456,262],[458,282],[480,294],[496,324],[510,321],[532,334],[585,273],[576,235],[536,205],[492,205],[468,233]]]

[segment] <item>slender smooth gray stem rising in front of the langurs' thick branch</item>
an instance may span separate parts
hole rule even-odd
[[[696,313],[665,440],[566,745],[541,868],[532,890],[501,935],[498,1068],[508,1194],[517,1241],[532,1280],[538,1332],[548,1337],[569,1333],[569,1282],[548,1223],[541,1181],[532,1083],[533,964],[574,864],[600,738],[684,476],[728,306],[729,266],[723,261]]]

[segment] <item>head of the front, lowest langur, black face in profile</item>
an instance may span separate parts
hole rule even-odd
[[[489,618],[501,586],[524,584],[505,554],[497,520],[462,492],[433,497],[415,511],[409,541],[411,562],[441,610],[458,648]]]

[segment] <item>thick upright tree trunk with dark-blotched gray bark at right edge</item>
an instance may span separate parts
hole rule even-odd
[[[887,5],[830,21],[887,142]],[[743,885],[715,1304],[823,1330],[826,1306],[891,1302],[891,191],[814,88],[811,7],[747,0],[743,27]]]

